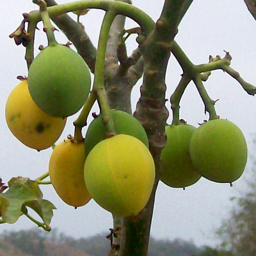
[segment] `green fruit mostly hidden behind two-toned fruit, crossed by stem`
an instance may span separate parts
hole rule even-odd
[[[112,110],[111,114],[114,119],[117,134],[134,136],[148,147],[146,132],[135,117],[120,110]],[[99,115],[88,127],[86,138],[84,139],[84,148],[86,149],[86,152],[89,153],[97,143],[105,138],[106,129],[102,123],[101,116]]]

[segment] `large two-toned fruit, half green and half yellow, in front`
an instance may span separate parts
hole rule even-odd
[[[91,150],[84,165],[84,179],[101,207],[119,216],[137,215],[152,192],[154,160],[140,140],[119,134]]]

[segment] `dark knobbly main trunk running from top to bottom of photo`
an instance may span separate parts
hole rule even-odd
[[[166,0],[155,30],[146,38],[139,36],[139,49],[144,58],[144,76],[141,96],[134,116],[142,123],[150,142],[150,151],[156,166],[156,181],[150,200],[135,217],[124,218],[120,255],[147,255],[154,199],[160,172],[160,154],[166,142],[165,73],[172,43],[177,33],[181,12],[186,0]]]

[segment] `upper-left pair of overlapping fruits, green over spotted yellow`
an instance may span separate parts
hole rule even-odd
[[[91,76],[82,57],[69,47],[46,47],[33,60],[6,103],[6,121],[25,145],[44,150],[54,144],[67,117],[76,113],[90,92]]]

